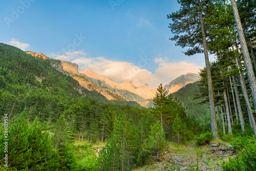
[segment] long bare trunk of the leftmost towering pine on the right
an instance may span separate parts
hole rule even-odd
[[[203,38],[203,47],[204,47],[205,66],[206,66],[207,81],[208,81],[211,132],[214,135],[214,139],[220,139],[219,132],[218,132],[217,119],[216,119],[215,104],[214,104],[214,88],[212,86],[208,48],[207,48],[207,42],[206,42],[204,22],[203,22],[203,14],[201,11],[201,1],[199,0],[198,2],[199,2],[199,13],[200,13],[201,31],[202,31],[202,38]]]

